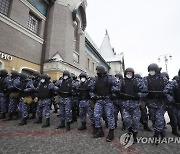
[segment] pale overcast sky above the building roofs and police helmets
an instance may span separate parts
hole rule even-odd
[[[124,52],[125,65],[147,75],[150,63],[165,71],[164,56],[170,53],[168,72],[180,69],[180,0],[87,0],[87,29],[100,47],[105,29],[112,47]]]

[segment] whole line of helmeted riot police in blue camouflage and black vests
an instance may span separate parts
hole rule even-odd
[[[107,74],[103,66],[97,66],[96,71],[96,77],[88,77],[83,72],[77,80],[66,70],[59,80],[51,82],[47,74],[39,72],[28,77],[17,71],[8,75],[6,70],[1,70],[0,118],[8,121],[20,116],[19,125],[25,125],[31,112],[30,119],[36,117],[34,123],[42,123],[44,117],[42,127],[48,127],[50,107],[56,102],[60,119],[57,129],[69,131],[71,123],[79,116],[81,126],[78,129],[85,130],[88,115],[93,127],[92,136],[99,138],[104,136],[103,118],[109,128],[106,141],[111,142],[120,112],[122,130],[132,133],[134,142],[137,142],[140,123],[145,130],[152,131],[149,120],[153,124],[154,137],[165,137],[164,114],[168,111],[172,134],[180,136],[177,131],[180,128],[180,70],[172,81],[155,63],[148,66],[149,74],[143,78],[135,74],[133,68],[127,68],[124,77],[120,73],[115,76]]]

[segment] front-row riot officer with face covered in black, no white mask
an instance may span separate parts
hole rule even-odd
[[[96,100],[94,106],[94,120],[96,131],[93,131],[93,138],[103,137],[101,118],[103,109],[107,117],[109,134],[106,141],[111,142],[114,139],[115,117],[114,105],[111,98],[114,96],[115,77],[107,75],[104,66],[97,66],[97,77],[92,82],[90,95],[91,99]]]

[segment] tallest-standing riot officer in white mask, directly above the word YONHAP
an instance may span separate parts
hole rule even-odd
[[[164,114],[166,111],[166,97],[163,93],[164,87],[168,84],[168,79],[160,74],[160,68],[152,63],[148,66],[149,75],[143,78],[148,87],[147,105],[154,126],[154,137],[164,137]],[[155,142],[157,145],[158,143]]]

